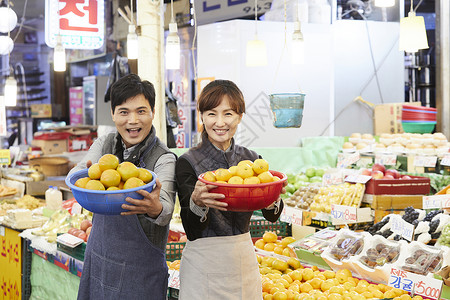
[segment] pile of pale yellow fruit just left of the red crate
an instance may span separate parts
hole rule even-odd
[[[309,208],[311,211],[330,213],[331,204],[359,207],[364,189],[364,184],[349,182],[321,187]]]

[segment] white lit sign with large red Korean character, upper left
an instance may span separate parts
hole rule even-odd
[[[45,0],[45,43],[60,34],[66,49],[98,49],[105,40],[104,0]]]

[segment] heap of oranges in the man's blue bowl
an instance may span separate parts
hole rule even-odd
[[[75,186],[100,191],[126,190],[143,186],[153,179],[149,170],[127,161],[119,164],[119,158],[113,154],[105,154],[98,163],[91,165],[88,176],[78,179]]]

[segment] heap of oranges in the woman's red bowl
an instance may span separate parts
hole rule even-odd
[[[210,182],[228,184],[260,184],[280,180],[269,171],[269,163],[258,158],[254,162],[242,160],[236,166],[228,169],[220,168],[215,171],[208,171],[203,175],[203,179]]]

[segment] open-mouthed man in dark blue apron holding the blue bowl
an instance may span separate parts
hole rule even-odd
[[[105,112],[106,113],[106,112]],[[155,89],[130,74],[111,87],[117,133],[98,138],[71,173],[112,153],[119,160],[153,170],[156,187],[127,198],[121,215],[94,214],[78,299],[166,299],[165,249],[175,203],[176,156],[156,137],[152,121]]]

